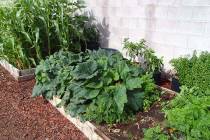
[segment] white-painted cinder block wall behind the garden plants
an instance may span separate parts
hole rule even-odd
[[[104,47],[124,52],[124,38],[145,38],[164,56],[166,68],[174,57],[210,51],[210,0],[87,0],[87,5]]]

